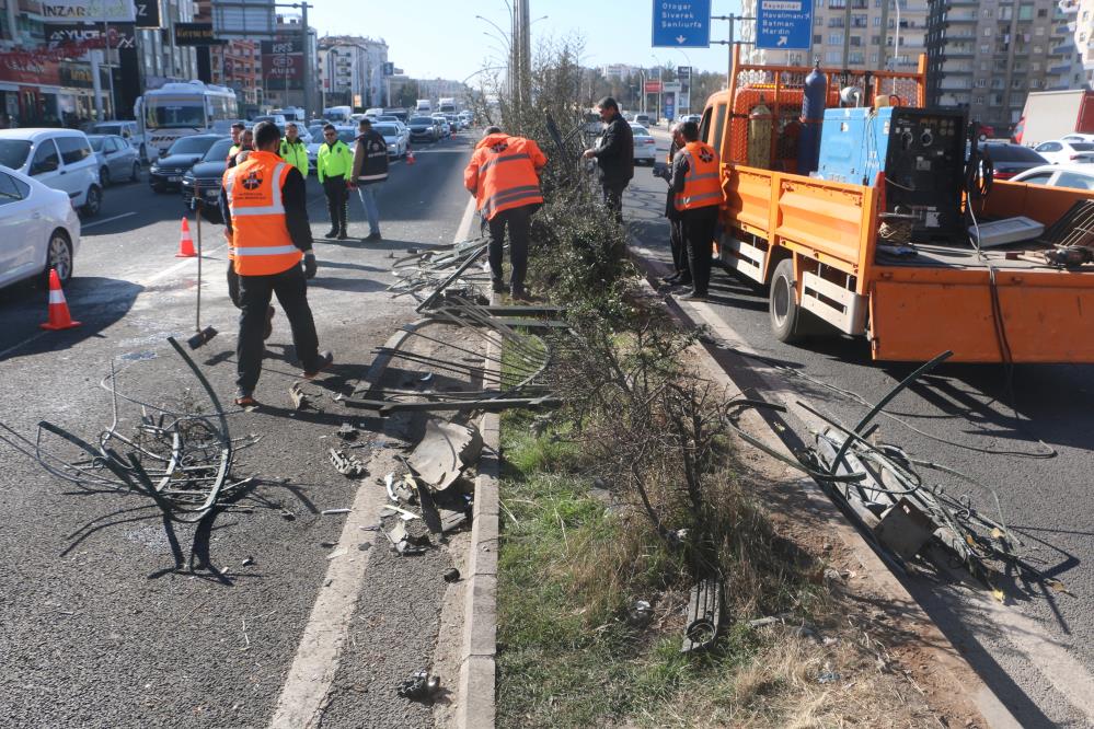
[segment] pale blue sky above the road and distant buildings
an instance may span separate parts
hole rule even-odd
[[[482,15],[509,31],[503,0],[312,0],[308,21],[322,35],[366,35],[388,42],[388,59],[418,79],[454,79],[504,62],[500,34]],[[725,72],[728,47],[650,47],[656,0],[530,0],[532,47],[545,36],[579,34],[584,66],[687,66]],[[739,0],[711,0],[713,15],[740,13]],[[536,19],[546,15],[544,20]],[[493,37],[486,35],[493,34]],[[711,38],[725,39],[726,21],[711,21]],[[469,83],[474,83],[472,79]]]

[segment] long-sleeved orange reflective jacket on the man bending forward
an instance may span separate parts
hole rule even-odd
[[[537,173],[544,165],[546,155],[531,139],[490,135],[475,146],[463,184],[475,194],[475,207],[492,220],[503,210],[543,201]]]

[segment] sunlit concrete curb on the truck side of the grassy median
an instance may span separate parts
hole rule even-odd
[[[647,277],[653,277],[653,280],[668,273],[664,264],[638,253],[637,247],[633,239],[629,240],[631,258],[640,271]],[[649,280],[644,279],[643,281],[649,293],[656,296]],[[700,309],[706,309],[706,304],[691,303],[680,305],[679,303],[675,303],[668,305],[669,312],[684,326],[695,327],[706,325],[716,329],[716,326],[711,321],[713,313],[712,316],[696,316],[694,314]],[[718,332],[715,332],[715,334],[718,334]],[[737,372],[736,374],[730,372],[734,363],[719,362],[707,347],[696,344],[692,347],[692,351],[696,356],[701,367],[712,375],[727,381],[728,384],[740,392],[748,392],[750,389],[755,390],[755,385],[749,387],[746,386],[746,383],[739,382],[742,372]],[[744,364],[739,362],[736,366],[742,370],[745,369]],[[791,459],[794,458],[771,423],[761,417],[757,410],[746,412],[740,419],[740,425],[753,437],[763,441],[769,448]],[[785,478],[787,482],[792,482],[799,490],[804,499],[803,507],[810,509],[814,516],[824,519],[831,533],[837,535],[840,542],[851,551],[854,558],[863,566],[868,579],[873,583],[872,587],[886,595],[896,615],[907,621],[911,626],[914,626],[917,633],[924,638],[924,646],[920,647],[920,650],[929,656],[932,661],[932,664],[922,667],[924,673],[930,674],[936,684],[948,685],[955,692],[959,687],[960,693],[966,697],[971,707],[980,714],[988,727],[994,729],[1021,727],[1010,709],[988,687],[971,664],[969,664],[937,624],[908,592],[900,580],[882,562],[880,557],[878,557],[865,539],[821,490],[820,486],[811,478],[802,477],[802,474],[796,472],[790,472],[788,467],[786,468]]]

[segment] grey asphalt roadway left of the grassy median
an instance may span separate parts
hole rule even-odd
[[[388,269],[408,247],[452,242],[468,202],[467,137],[419,149],[413,166],[392,167],[379,193],[382,242],[316,238],[320,269],[309,299],[321,348],[335,354],[334,368],[311,385],[323,412],[291,412],[287,389],[299,369],[278,312],[255,392],[269,407],[231,416],[233,436],[263,437],[238,459],[238,472],[258,482],[209,532],[173,530],[184,554],[195,548],[195,572],[175,569],[169,532],[147,499],[82,491],[0,443],[0,724],[266,726],[330,582],[324,576],[346,560],[364,566],[365,587],[352,595],[347,667],[326,667],[336,711],[323,726],[431,726],[431,709],[398,698],[394,686],[430,663],[437,575],[447,555],[415,564],[383,554],[368,559],[367,533],[344,535],[346,518],[320,511],[349,507],[361,494],[358,502],[371,504],[382,491],[376,473],[358,483],[329,463],[326,448],[345,417],[327,395],[360,377],[372,347],[414,317],[412,302],[384,292]],[[308,185],[312,230],[321,236],[325,202],[314,177]],[[183,215],[177,195],[154,195],[143,182],[106,192],[101,216],[85,221],[66,288],[79,328],[44,333],[44,291],[0,291],[0,420],[33,437],[37,421],[48,419],[94,440],[110,424],[110,397],[99,385],[112,361],[129,396],[199,396],[165,342],[194,332],[197,262],[174,257]],[[356,198],[350,221],[350,234],[368,233]],[[230,402],[237,313],[227,299],[220,229],[207,223],[201,232],[201,325],[220,334],[196,359]],[[123,408],[123,425],[135,415]],[[331,545],[346,539],[358,549],[329,559]],[[412,618],[406,604],[414,605]]]

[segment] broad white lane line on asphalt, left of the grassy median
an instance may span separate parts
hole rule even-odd
[[[332,552],[338,556],[331,559],[326,568],[315,606],[269,720],[270,729],[314,727],[322,718],[349,632],[349,621],[357,609],[369,555],[380,548],[376,544],[378,532],[375,529],[362,531],[361,528],[379,523],[378,513],[387,496],[382,488],[359,482],[353,511],[346,518],[342,537]],[[361,544],[369,546],[362,549]]]

